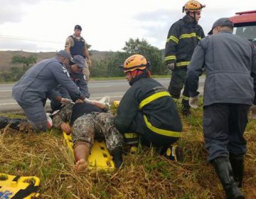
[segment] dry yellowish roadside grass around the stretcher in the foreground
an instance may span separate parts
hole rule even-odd
[[[178,107],[180,109],[180,107]],[[202,133],[202,108],[182,117],[185,161],[176,163],[142,146],[124,156],[124,168],[107,173],[75,173],[63,136],[57,129],[41,134],[0,131],[0,173],[38,176],[41,198],[224,198],[213,167],[206,163]],[[15,115],[16,117],[16,115]],[[247,155],[242,191],[256,198],[256,122],[245,131]]]

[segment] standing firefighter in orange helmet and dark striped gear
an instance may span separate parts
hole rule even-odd
[[[191,114],[188,104],[189,93],[186,84],[186,72],[193,50],[196,48],[198,41],[205,37],[203,28],[198,25],[204,7],[198,1],[188,1],[183,6],[183,12],[186,12],[186,16],[171,26],[166,41],[165,61],[167,68],[172,70],[168,91],[171,97],[178,101],[184,85],[182,114],[185,116]]]

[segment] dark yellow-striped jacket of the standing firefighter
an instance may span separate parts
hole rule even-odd
[[[186,15],[171,26],[165,48],[166,64],[176,63],[177,68],[186,68],[198,41],[205,37],[203,28],[191,19]]]

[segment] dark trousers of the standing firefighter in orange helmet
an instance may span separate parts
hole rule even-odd
[[[171,81],[168,87],[168,91],[171,94],[171,97],[174,99],[179,99],[181,95],[181,90],[184,87],[182,93],[182,104],[183,107],[187,107],[189,109],[188,99],[189,99],[189,90],[188,84],[186,82],[187,77],[187,68],[175,68],[171,73]]]

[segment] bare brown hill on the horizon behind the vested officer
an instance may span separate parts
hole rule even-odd
[[[41,61],[46,58],[53,58],[55,57],[55,54],[57,52],[40,52],[40,53],[31,53],[31,52],[26,52],[22,50],[8,50],[8,51],[0,51],[0,68],[4,70],[8,70],[12,66],[20,66],[21,64],[14,64],[11,63],[11,58],[14,57],[14,55],[21,55],[28,57],[29,55],[36,54],[38,57],[38,61]],[[97,51],[97,50],[91,50],[90,53],[91,59],[92,59],[92,64],[93,60],[99,60],[105,58],[110,52],[105,52],[105,51]]]

